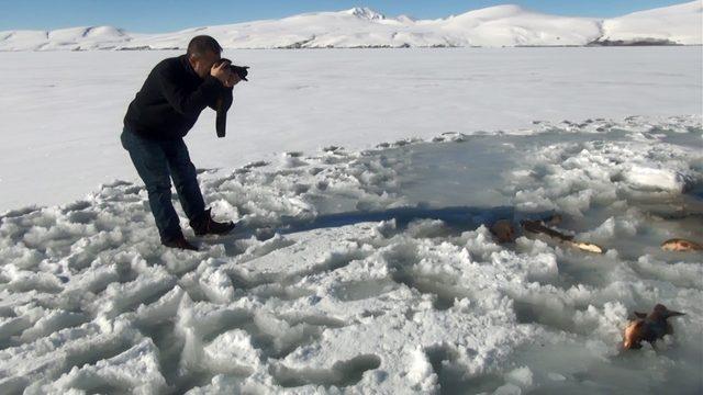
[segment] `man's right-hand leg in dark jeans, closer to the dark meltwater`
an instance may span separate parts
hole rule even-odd
[[[183,212],[191,222],[198,222],[205,215],[205,203],[198,184],[196,166],[190,161],[188,147],[182,138],[168,142],[165,147],[168,168],[176,191],[178,191],[178,200],[183,207]]]

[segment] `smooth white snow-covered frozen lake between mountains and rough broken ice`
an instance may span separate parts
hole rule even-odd
[[[0,53],[0,212],[78,199],[134,179],[122,117],[176,52]],[[532,121],[701,114],[700,47],[227,50],[252,67],[228,135],[203,112],[187,142],[201,168],[283,151],[373,147]]]

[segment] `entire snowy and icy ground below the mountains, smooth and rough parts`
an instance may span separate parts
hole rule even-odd
[[[199,252],[119,145],[170,55],[0,54],[0,393],[703,391],[703,252],[659,248],[703,239],[700,48],[228,52]],[[487,228],[551,213],[605,253]]]

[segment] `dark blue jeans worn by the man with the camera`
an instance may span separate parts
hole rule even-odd
[[[205,214],[205,203],[198,184],[196,167],[190,161],[186,143],[182,138],[146,139],[126,128],[122,131],[120,139],[146,185],[149,206],[161,241],[182,236],[178,214],[171,203],[169,176],[174,179],[180,205],[191,223],[202,219]]]

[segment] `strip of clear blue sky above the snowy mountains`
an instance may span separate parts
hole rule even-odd
[[[479,8],[513,3],[561,15],[609,18],[682,0],[0,0],[0,31],[113,25],[156,33],[186,27],[278,19],[302,12],[369,7],[386,15],[443,18]]]

